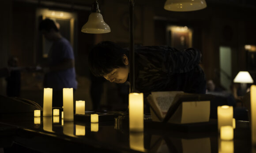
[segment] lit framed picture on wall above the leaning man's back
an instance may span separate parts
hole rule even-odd
[[[168,26],[169,43],[172,47],[184,50],[192,47],[192,29],[187,26]]]

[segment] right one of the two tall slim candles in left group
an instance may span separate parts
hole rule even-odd
[[[64,122],[74,120],[73,111],[73,88],[63,88]]]

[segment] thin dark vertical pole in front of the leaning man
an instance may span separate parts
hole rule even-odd
[[[135,89],[135,74],[134,74],[134,0],[129,0],[130,3],[130,93]]]

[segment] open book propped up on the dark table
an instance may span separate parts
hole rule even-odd
[[[209,121],[211,98],[183,91],[158,91],[151,92],[147,101],[153,121],[186,124]]]

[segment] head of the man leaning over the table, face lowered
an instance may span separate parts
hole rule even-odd
[[[126,50],[111,41],[95,45],[89,53],[89,68],[95,76],[106,80],[124,83],[129,73]]]

